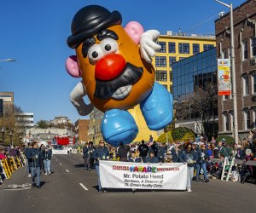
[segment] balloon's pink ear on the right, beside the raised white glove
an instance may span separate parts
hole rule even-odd
[[[135,43],[140,43],[141,36],[144,32],[143,26],[137,21],[131,21],[125,26],[125,31],[130,35]]]

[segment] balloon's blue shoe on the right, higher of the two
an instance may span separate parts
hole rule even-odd
[[[172,94],[155,82],[151,94],[140,105],[150,130],[162,130],[172,122],[172,102]]]

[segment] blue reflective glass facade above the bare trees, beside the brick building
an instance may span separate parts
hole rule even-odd
[[[216,48],[209,49],[172,65],[173,98],[185,100],[195,87],[217,83]]]

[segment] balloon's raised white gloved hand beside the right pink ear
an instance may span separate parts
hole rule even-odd
[[[161,46],[156,43],[160,32],[156,30],[149,30],[143,32],[140,40],[141,56],[148,63],[152,62],[152,57],[154,57],[155,52],[161,49]]]

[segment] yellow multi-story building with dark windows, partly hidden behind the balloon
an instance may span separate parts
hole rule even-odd
[[[178,60],[195,55],[204,50],[215,47],[215,37],[212,35],[197,35],[186,33],[167,32],[166,35],[160,35],[159,42],[161,49],[156,53],[153,65],[155,68],[155,80],[172,92],[172,64]],[[149,136],[152,135],[156,140],[162,131],[152,131],[143,118],[143,114],[139,106],[133,107],[129,110],[137,123],[139,133],[134,141],[148,141]],[[97,116],[96,116],[97,115]],[[94,110],[90,114],[90,128],[89,139],[93,141],[93,135],[96,140],[102,139],[101,121],[103,113]]]

